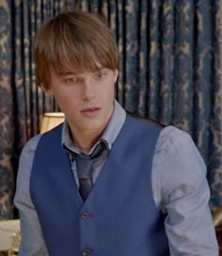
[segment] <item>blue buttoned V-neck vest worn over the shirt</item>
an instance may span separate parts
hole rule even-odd
[[[30,195],[51,256],[169,255],[165,216],[151,189],[160,130],[127,116],[85,202],[61,146],[61,126],[41,136]]]

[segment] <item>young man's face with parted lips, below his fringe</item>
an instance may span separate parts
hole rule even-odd
[[[118,70],[51,74],[50,94],[66,115],[72,132],[103,132],[113,112]]]

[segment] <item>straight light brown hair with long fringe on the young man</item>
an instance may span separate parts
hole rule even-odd
[[[96,72],[98,65],[119,68],[117,43],[109,27],[95,14],[74,10],[45,22],[34,40],[37,83],[46,90],[50,74]]]

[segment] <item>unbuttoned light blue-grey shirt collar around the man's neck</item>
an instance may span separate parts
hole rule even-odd
[[[119,131],[125,122],[125,119],[126,119],[126,111],[123,110],[123,108],[119,105],[118,101],[115,99],[114,111],[109,120],[109,123],[107,127],[104,129],[103,135],[101,136],[100,140],[95,145],[93,145],[89,154],[91,154],[95,149],[96,145],[98,145],[102,141],[106,145],[107,150],[111,150],[112,145],[115,143],[115,140],[119,135]],[[80,153],[79,148],[74,146],[73,143],[71,142],[70,128],[66,120],[62,128],[61,143],[64,147],[66,147],[71,152],[77,153],[77,154]]]

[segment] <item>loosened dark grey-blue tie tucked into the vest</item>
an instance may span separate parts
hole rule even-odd
[[[87,199],[88,194],[92,188],[91,173],[93,171],[94,163],[103,161],[106,158],[108,151],[103,144],[97,145],[91,156],[83,154],[75,155],[75,163],[79,179],[79,193],[83,200]]]

